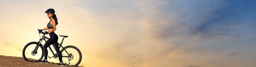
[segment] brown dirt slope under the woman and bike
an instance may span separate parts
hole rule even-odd
[[[22,57],[0,55],[0,67],[68,67],[60,66],[58,63],[35,63],[25,61]],[[79,66],[81,67],[81,66]]]

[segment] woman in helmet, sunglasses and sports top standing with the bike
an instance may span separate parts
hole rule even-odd
[[[58,63],[58,65],[63,66],[64,63],[62,62],[62,54],[58,48],[58,36],[54,33],[54,30],[56,30],[56,25],[58,24],[58,19],[56,17],[56,15],[54,14],[55,11],[54,9],[47,9],[45,11],[45,13],[47,13],[47,16],[50,19],[50,22],[47,24],[47,27],[42,29],[42,30],[48,30],[49,32],[45,32],[45,34],[49,34],[50,38],[48,39],[48,41],[46,41],[45,45],[44,45],[44,50],[45,50],[45,60],[40,61],[39,63],[48,63],[47,61],[47,55],[48,55],[48,51],[47,51],[47,47],[49,47],[50,45],[54,45],[56,52],[58,53],[58,58],[60,63]],[[39,31],[42,31],[39,30]]]

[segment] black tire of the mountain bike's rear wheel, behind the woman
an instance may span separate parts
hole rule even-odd
[[[74,65],[71,65],[71,66],[78,66],[80,63],[81,63],[81,61],[82,61],[82,53],[81,53],[81,51],[78,49],[78,48],[76,48],[75,46],[73,46],[73,45],[68,45],[68,46],[65,46],[63,49],[61,49],[61,53],[62,53],[62,55],[63,55],[63,51],[64,51],[64,49],[66,50],[66,49],[68,49],[68,48],[73,48],[73,49],[75,49],[78,53],[79,53],[79,60],[78,60],[78,62],[77,63],[75,63]],[[69,52],[68,50],[67,50],[67,52]],[[66,52],[65,52],[66,53]],[[69,52],[69,54],[70,54],[70,52]],[[72,53],[71,53],[72,54]],[[63,58],[63,57],[62,57]],[[64,60],[64,59],[63,59]],[[63,61],[64,62],[64,61]],[[67,62],[66,62],[66,64],[67,64]],[[70,65],[70,64],[68,64],[68,65]]]

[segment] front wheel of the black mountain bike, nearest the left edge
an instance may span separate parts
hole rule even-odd
[[[25,45],[22,51],[22,56],[25,61],[39,62],[43,59],[43,45],[38,45],[38,42],[30,42]],[[35,50],[35,48],[38,48]]]

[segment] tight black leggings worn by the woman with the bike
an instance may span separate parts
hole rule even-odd
[[[62,54],[61,54],[60,48],[58,48],[58,36],[54,32],[51,32],[49,35],[50,35],[50,38],[48,39],[48,41],[46,41],[44,45],[45,59],[47,59],[47,55],[48,55],[47,47],[53,44],[54,49],[58,53],[58,59],[60,60],[60,62],[62,62]]]

